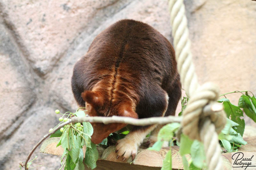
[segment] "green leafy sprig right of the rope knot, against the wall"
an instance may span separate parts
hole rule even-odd
[[[247,142],[243,140],[245,128],[243,111],[248,117],[250,117],[254,122],[256,122],[256,98],[253,94],[252,96],[250,96],[248,92],[249,91],[244,91],[244,93],[240,92],[242,93],[242,95],[238,100],[237,106],[233,105],[226,98],[225,95],[230,93],[221,95],[225,98],[218,100],[223,104],[224,111],[226,112],[228,117],[227,124],[225,128],[222,130],[221,134],[219,135],[220,144],[227,150],[227,152],[237,151],[237,148],[241,147],[241,144],[247,144]]]

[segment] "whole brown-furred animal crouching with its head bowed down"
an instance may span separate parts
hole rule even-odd
[[[148,118],[174,115],[181,96],[180,76],[170,42],[151,26],[124,19],[109,26],[93,40],[75,65],[72,91],[90,116]],[[92,142],[99,144],[126,124],[92,123]],[[161,126],[135,126],[117,141],[123,159],[132,155],[146,135],[156,142]]]

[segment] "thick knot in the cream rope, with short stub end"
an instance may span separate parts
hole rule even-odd
[[[216,102],[218,97],[219,87],[213,83],[208,82],[197,88],[183,112],[181,125],[185,135],[200,140],[200,131],[209,119],[215,125],[216,132],[220,133],[226,124],[226,114],[222,105]]]

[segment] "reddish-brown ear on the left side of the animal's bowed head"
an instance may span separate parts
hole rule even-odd
[[[103,106],[103,96],[100,92],[84,91],[81,94],[83,100],[93,107]]]

